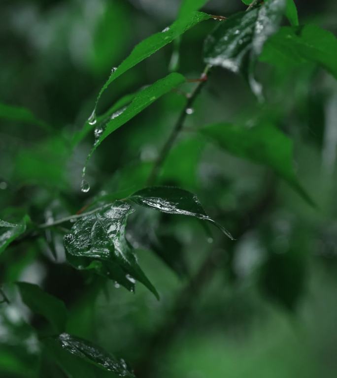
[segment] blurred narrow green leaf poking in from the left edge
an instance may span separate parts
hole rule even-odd
[[[0,119],[38,126],[44,131],[52,130],[47,123],[37,119],[31,110],[21,106],[0,103]]]

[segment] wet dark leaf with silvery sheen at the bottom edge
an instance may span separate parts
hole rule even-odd
[[[84,362],[84,366],[89,363],[99,368],[98,371],[95,371],[93,375],[88,375],[88,377],[101,377],[105,372],[111,372],[119,377],[134,378],[134,374],[130,371],[123,359],[118,360],[112,354],[108,353],[101,347],[98,347],[88,340],[84,340],[78,337],[71,336],[67,333],[62,333],[58,337],[48,338],[45,340],[45,345],[48,350],[56,357],[59,365],[69,374],[72,371],[71,361],[78,361],[78,359]],[[76,359],[69,360],[63,358],[65,354],[70,354]],[[64,364],[64,361],[66,364]],[[89,370],[90,369],[89,366]],[[81,365],[80,365],[81,366]],[[82,368],[82,367],[81,367]],[[101,372],[101,373],[100,373]],[[76,377],[81,377],[77,375]],[[86,373],[84,372],[86,377]],[[72,374],[71,374],[72,377]],[[103,375],[105,377],[105,375]]]

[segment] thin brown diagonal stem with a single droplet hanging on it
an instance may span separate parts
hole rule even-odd
[[[210,68],[211,68],[210,65],[206,65],[205,69],[203,70],[203,73],[202,73],[202,76],[201,76],[201,80],[199,81],[199,83],[197,84],[197,86],[195,87],[195,89],[193,90],[193,92],[189,95],[188,100],[186,102],[186,105],[185,105],[184,109],[180,113],[180,116],[179,116],[179,118],[178,118],[178,120],[177,120],[174,128],[172,129],[172,131],[171,131],[171,133],[169,135],[168,140],[164,144],[162,150],[160,151],[160,153],[158,155],[158,158],[156,159],[156,161],[154,163],[152,171],[151,171],[151,173],[149,175],[149,178],[147,180],[147,185],[148,186],[151,186],[151,185],[155,184],[155,182],[156,182],[156,180],[158,178],[160,169],[161,169],[161,167],[162,167],[165,159],[167,158],[167,156],[169,154],[169,151],[173,147],[174,142],[176,141],[176,139],[177,139],[180,131],[182,130],[182,128],[184,126],[184,122],[185,122],[186,116],[188,115],[188,111],[189,111],[188,109],[191,109],[193,107],[193,104],[194,104],[196,98],[200,94],[203,86],[205,85],[205,83],[207,81],[207,80],[203,80],[203,77],[205,75],[207,75],[207,73],[209,72]]]

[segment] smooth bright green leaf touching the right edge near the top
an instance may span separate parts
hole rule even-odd
[[[260,61],[279,68],[314,62],[337,79],[337,38],[315,25],[283,27],[268,40]]]

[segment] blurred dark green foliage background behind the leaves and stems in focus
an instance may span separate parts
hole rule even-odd
[[[296,4],[301,24],[336,35],[335,0]],[[71,153],[67,140],[88,119],[112,67],[167,27],[178,6],[178,0],[1,0],[0,102],[27,107],[53,127],[50,133],[0,120],[1,218],[10,208],[41,223],[74,214],[95,196],[127,195],[143,185],[184,106],[180,93],[163,97],[102,143],[87,169],[88,193],[80,181],[94,136]],[[203,10],[228,16],[244,7],[239,0],[213,0]],[[200,76],[203,40],[217,22],[203,22],[181,38],[178,70],[186,77]],[[114,82],[99,113],[167,75],[173,50],[166,46]],[[161,378],[336,377],[337,83],[311,64],[283,71],[261,64],[257,73],[265,105],[241,77],[214,69],[160,178],[198,194],[209,214],[240,235],[236,242],[197,221],[139,210],[128,238],[139,247],[159,302],[140,284],[131,294],[71,268],[57,232],[45,235],[48,243],[37,238],[3,253],[0,283],[36,283],[63,299],[69,332],[125,358],[139,377],[145,371]],[[297,174],[317,209],[265,168],[194,132],[261,113],[280,120],[294,140]],[[158,248],[148,244],[153,230]],[[210,268],[190,285],[214,249]],[[0,305],[0,377],[65,377],[50,361],[47,373],[40,367],[27,325],[39,319],[10,284],[3,287],[11,303]]]

